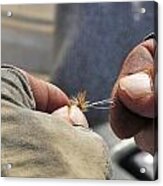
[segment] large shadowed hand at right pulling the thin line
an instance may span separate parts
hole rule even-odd
[[[127,56],[114,85],[111,126],[120,138],[134,136],[137,145],[157,151],[156,41],[149,39]]]

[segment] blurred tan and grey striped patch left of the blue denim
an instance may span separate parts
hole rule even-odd
[[[54,5],[1,7],[3,63],[49,75],[54,65],[55,9]]]

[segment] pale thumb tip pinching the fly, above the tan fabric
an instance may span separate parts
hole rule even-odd
[[[64,106],[52,113],[53,116],[61,117],[72,125],[83,126],[88,128],[88,122],[83,112],[75,105],[69,107]]]

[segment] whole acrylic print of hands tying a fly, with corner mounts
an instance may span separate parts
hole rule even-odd
[[[157,3],[1,15],[2,176],[157,179]]]

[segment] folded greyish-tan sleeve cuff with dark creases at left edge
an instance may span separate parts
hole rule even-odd
[[[36,108],[28,79],[21,70],[12,65],[3,64],[1,66],[1,80],[1,97],[3,100],[21,107]]]

